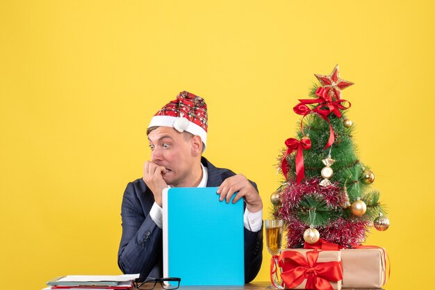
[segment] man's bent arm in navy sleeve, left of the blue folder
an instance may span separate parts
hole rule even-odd
[[[152,196],[151,193],[150,195]],[[146,196],[149,197],[149,208],[154,203],[151,196]],[[162,255],[162,230],[151,216],[142,210],[132,182],[127,185],[124,192],[121,216],[122,238],[118,251],[118,266],[124,274],[148,275]]]

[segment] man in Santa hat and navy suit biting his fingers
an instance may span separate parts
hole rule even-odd
[[[181,92],[151,119],[147,130],[151,161],[143,178],[130,182],[122,200],[118,265],[123,273],[163,275],[162,191],[167,187],[219,187],[220,201],[245,201],[245,282],[261,267],[263,204],[256,184],[211,164],[202,152],[207,139],[207,106],[200,96]]]

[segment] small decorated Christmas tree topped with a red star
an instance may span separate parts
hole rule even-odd
[[[319,237],[350,248],[360,245],[374,221],[386,230],[389,221],[375,176],[356,155],[354,126],[345,116],[350,102],[341,91],[353,83],[340,78],[338,65],[329,76],[315,75],[312,99],[300,99],[293,110],[302,115],[297,139],[286,140],[279,171],[286,181],[271,196],[273,215],[284,219],[288,248],[314,244]]]

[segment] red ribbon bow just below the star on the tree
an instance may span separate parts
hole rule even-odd
[[[318,96],[318,99],[299,99],[300,103],[295,105],[293,111],[295,111],[296,114],[300,114],[304,117],[306,117],[306,115],[310,114],[311,112],[315,112],[319,114],[319,116],[322,119],[324,119],[329,123],[329,139],[325,146],[325,148],[328,148],[335,141],[334,130],[331,126],[331,122],[328,119],[329,114],[333,112],[340,119],[341,118],[340,110],[346,110],[350,108],[351,104],[349,101],[343,99],[334,101],[332,99],[332,96],[328,94],[327,89],[325,89],[325,87],[318,87],[315,94]],[[346,107],[345,105],[342,104],[345,102],[347,102],[349,106]],[[315,104],[315,103],[318,103],[319,105],[311,110],[308,105]],[[327,109],[324,109],[325,107]],[[302,121],[304,120],[304,117],[302,117],[301,120],[302,133],[304,133],[304,129],[302,127]]]

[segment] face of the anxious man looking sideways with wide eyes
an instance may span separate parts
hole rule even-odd
[[[188,180],[195,165],[190,138],[174,128],[158,127],[149,133],[148,140],[151,161],[165,167],[162,176],[167,185],[185,186],[183,180]]]

